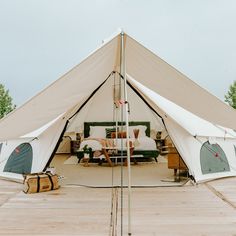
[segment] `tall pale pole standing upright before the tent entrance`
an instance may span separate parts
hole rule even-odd
[[[124,78],[124,106],[126,126],[126,148],[127,148],[127,169],[128,169],[128,235],[131,235],[131,170],[130,170],[130,142],[129,142],[129,104],[127,94],[127,79],[125,66],[124,32],[121,32],[121,75]]]

